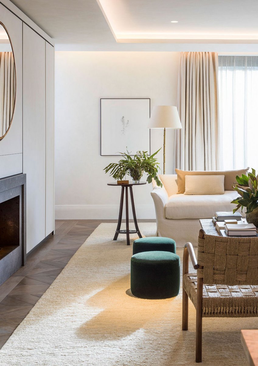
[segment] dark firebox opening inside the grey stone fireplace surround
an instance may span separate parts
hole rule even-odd
[[[20,196],[0,203],[0,260],[20,245]]]

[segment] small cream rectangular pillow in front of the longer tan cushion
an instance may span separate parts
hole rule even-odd
[[[224,175],[186,175],[184,194],[224,194]]]

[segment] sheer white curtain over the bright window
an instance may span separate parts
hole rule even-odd
[[[222,169],[258,169],[258,56],[219,56]]]

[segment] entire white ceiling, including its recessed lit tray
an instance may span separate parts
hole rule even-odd
[[[258,52],[255,0],[11,1],[56,50]]]

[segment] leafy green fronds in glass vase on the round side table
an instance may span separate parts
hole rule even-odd
[[[127,174],[134,177],[134,180],[140,180],[143,172],[145,172],[148,174],[148,183],[151,183],[152,179],[154,179],[157,186],[162,187],[162,183],[157,176],[159,163],[158,160],[154,158],[159,150],[150,156],[147,154],[147,151],[138,151],[133,157],[130,156],[130,153],[127,150],[127,153],[120,153],[122,158],[118,163],[110,163],[103,170],[105,173],[109,172],[109,175],[114,179],[120,180]]]

